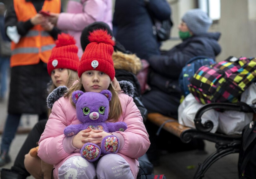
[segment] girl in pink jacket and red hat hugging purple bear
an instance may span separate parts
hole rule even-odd
[[[106,31],[90,33],[90,43],[86,46],[78,67],[78,83],[74,84],[56,101],[39,140],[38,156],[46,163],[54,165],[54,177],[67,178],[122,178],[136,179],[138,157],[146,153],[150,145],[148,133],[141,114],[131,96],[118,92],[112,84],[115,75],[113,66],[113,45]],[[71,95],[76,90],[101,92],[108,89],[112,93],[109,102],[107,122],[125,122],[127,130],[107,133],[102,130],[86,129],[77,135],[66,137],[64,129],[70,124],[79,124]],[[95,162],[89,162],[80,155],[86,142],[99,147],[106,136],[116,136],[119,141],[118,153],[103,155]]]

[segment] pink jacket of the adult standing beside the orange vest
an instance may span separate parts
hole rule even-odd
[[[69,0],[67,13],[61,13],[57,27],[67,32],[76,39],[78,56],[81,58],[83,50],[80,36],[84,27],[102,21],[112,29],[112,0]]]

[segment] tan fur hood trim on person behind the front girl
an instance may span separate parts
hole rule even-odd
[[[117,50],[113,52],[112,58],[116,70],[126,70],[137,75],[142,68],[140,58],[135,54],[125,54]]]

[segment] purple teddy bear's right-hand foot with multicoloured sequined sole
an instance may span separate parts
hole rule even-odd
[[[117,153],[119,141],[116,136],[106,136],[102,139],[101,150],[102,154]]]

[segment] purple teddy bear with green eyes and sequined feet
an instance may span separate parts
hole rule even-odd
[[[67,137],[74,136],[84,129],[99,129],[105,132],[125,131],[125,122],[106,123],[108,119],[109,101],[112,94],[109,90],[100,93],[74,91],[72,101],[76,104],[77,118],[81,124],[72,124],[65,128]],[[116,136],[106,136],[102,139],[101,147],[87,142],[81,148],[81,156],[92,162],[97,160],[101,154],[117,153],[119,141]]]

